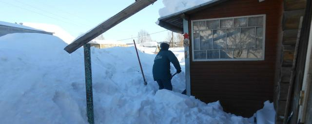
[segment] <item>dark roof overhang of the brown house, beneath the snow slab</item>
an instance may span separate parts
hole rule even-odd
[[[183,18],[188,20],[188,15],[194,14],[195,12],[198,12],[200,10],[215,6],[219,3],[222,3],[227,0],[211,0],[208,2],[205,2],[203,4],[194,6],[192,8],[158,18],[158,25],[160,27],[163,27],[167,30],[174,31],[177,33],[183,33]]]

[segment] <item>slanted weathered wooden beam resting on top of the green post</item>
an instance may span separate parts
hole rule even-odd
[[[127,19],[128,17],[136,14],[137,12],[149,6],[150,4],[153,4],[155,1],[157,0],[137,0],[135,3],[131,4],[124,10],[117,13],[115,16],[112,16],[111,18],[102,22],[91,31],[86,32],[83,36],[79,37],[73,43],[65,47],[64,50],[67,51],[68,53],[74,52],[79,47],[85,45],[86,43],[93,40],[100,34],[104,33],[105,31],[108,31],[109,29],[113,28],[114,26],[116,26],[123,20]]]

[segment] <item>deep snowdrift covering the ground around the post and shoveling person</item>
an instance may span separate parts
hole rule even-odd
[[[83,49],[69,55],[66,45],[46,34],[0,37],[0,124],[87,123]],[[157,91],[155,55],[139,53],[144,86],[134,47],[91,51],[96,124],[249,124],[218,102],[180,94],[184,72],[173,78],[174,92]]]

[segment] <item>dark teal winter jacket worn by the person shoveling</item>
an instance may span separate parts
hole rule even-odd
[[[170,73],[170,62],[174,64],[176,70],[181,70],[179,61],[177,60],[175,54],[168,50],[169,45],[167,45],[161,46],[162,48],[155,57],[153,65],[154,80],[172,78]]]

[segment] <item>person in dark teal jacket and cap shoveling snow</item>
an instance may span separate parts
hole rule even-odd
[[[173,76],[170,73],[170,62],[174,64],[177,74],[181,72],[181,66],[175,54],[168,49],[169,44],[160,44],[160,51],[154,59],[153,77],[158,83],[159,90],[167,89],[172,91],[171,79]]]

